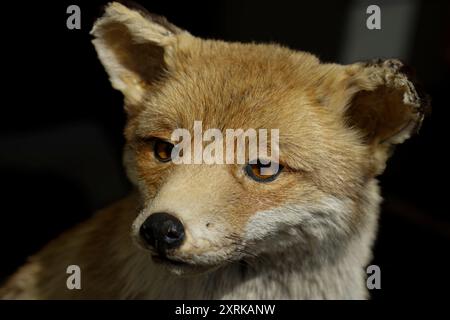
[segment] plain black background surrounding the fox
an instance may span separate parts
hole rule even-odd
[[[130,189],[121,165],[122,96],[89,36],[105,3],[2,4],[0,281]],[[140,3],[201,37],[279,42],[341,63],[395,55],[413,66],[433,111],[380,178],[385,201],[373,264],[382,289],[372,297],[443,297],[450,285],[447,1]],[[81,30],[66,28],[71,4],[81,8]],[[369,4],[380,6],[382,30],[365,27]]]

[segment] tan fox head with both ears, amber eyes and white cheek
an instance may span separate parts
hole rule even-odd
[[[397,60],[328,64],[279,45],[204,40],[118,3],[92,34],[124,95],[124,162],[142,201],[132,237],[178,273],[345,246],[375,223],[376,177],[426,107]],[[278,172],[174,164],[172,133],[195,121],[279,130]]]

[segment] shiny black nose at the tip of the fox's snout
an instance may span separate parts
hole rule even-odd
[[[184,240],[184,227],[176,217],[158,212],[149,216],[141,226],[141,237],[160,254],[177,248]]]

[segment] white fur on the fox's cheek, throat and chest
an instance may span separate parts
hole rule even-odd
[[[245,241],[257,257],[225,264],[207,273],[177,276],[145,255],[129,261],[122,297],[149,299],[365,299],[365,268],[377,227],[376,181],[367,186],[358,231],[345,219],[349,200],[327,197],[316,206],[257,213]],[[143,267],[146,266],[146,267]]]

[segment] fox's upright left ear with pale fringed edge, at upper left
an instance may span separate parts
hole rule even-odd
[[[113,2],[91,34],[112,86],[136,104],[170,66],[176,36],[184,32],[163,17]]]

